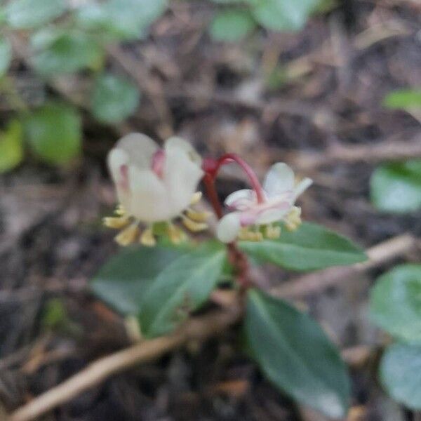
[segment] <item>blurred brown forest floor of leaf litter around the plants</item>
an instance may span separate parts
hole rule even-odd
[[[421,143],[417,116],[381,106],[389,91],[421,86],[420,6],[399,0],[343,4],[312,18],[297,34],[260,32],[242,44],[210,41],[210,11],[203,4],[174,6],[148,41],[109,51],[109,66],[127,72],[145,93],[138,114],[112,128],[86,114],[84,156],[72,168],[41,166],[28,158],[1,177],[0,401],[5,410],[129,343],[121,317],[88,287],[117,250],[114,233],[101,226],[101,218],[114,206],[105,156],[122,133],[140,131],[153,138],[177,133],[203,154],[241,154],[260,175],[274,161],[286,161],[314,179],[301,201],[305,220],[366,248],[406,233],[420,236],[420,213],[381,214],[369,199],[377,163],[405,157]],[[19,77],[33,75],[22,67]],[[76,89],[63,83],[51,93],[73,98]],[[222,174],[221,197],[241,186],[234,175]],[[396,262],[420,260],[415,246],[403,251],[294,298],[347,355],[353,380],[350,421],[419,419],[377,384],[378,355],[387,338],[367,312],[377,275]],[[267,288],[296,277],[265,269]],[[45,419],[323,420],[263,379],[241,354],[236,329],[115,375]]]

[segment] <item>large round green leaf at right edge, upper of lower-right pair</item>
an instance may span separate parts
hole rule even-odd
[[[421,265],[400,265],[371,290],[370,315],[391,335],[421,342]]]

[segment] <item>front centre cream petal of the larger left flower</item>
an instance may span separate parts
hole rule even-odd
[[[168,206],[168,197],[163,182],[150,170],[128,167],[131,196],[123,203],[127,213],[142,222],[158,222],[174,218]]]

